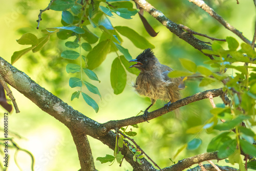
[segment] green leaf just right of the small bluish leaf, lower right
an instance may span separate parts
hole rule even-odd
[[[219,148],[224,144],[224,142],[231,140],[231,138],[228,136],[229,133],[230,132],[224,132],[212,138],[207,146],[207,152],[218,151]]]

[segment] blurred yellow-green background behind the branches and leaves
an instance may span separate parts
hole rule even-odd
[[[186,0],[160,0],[157,2],[150,0],[148,2],[177,24],[183,24],[196,32],[212,37],[226,38],[227,36],[232,36],[242,42],[237,36],[221,26],[202,9]],[[245,37],[250,40],[252,39],[255,7],[251,0],[240,1],[239,5],[234,0],[205,2],[231,25],[243,32]],[[61,12],[50,10],[42,15],[39,30],[36,30],[36,20],[38,19],[39,10],[45,9],[48,3],[49,1],[38,0],[1,2],[1,57],[10,62],[14,51],[25,48],[25,46],[18,45],[16,42],[16,39],[19,39],[22,34],[30,32],[41,37],[43,36],[40,31],[41,29],[61,26]],[[144,36],[156,47],[154,52],[159,61],[173,69],[182,68],[179,58],[189,58],[195,61],[197,65],[204,65],[203,62],[208,60],[208,57],[188,45],[182,39],[179,39],[173,33],[170,33],[169,30],[151,15],[144,12],[144,16],[152,27],[159,32],[156,37],[150,37],[146,33],[138,15],[135,15],[130,20],[120,18],[117,15],[110,19],[113,26],[129,26]],[[122,38],[124,40],[122,46],[129,50],[133,58],[143,51],[136,48],[129,39]],[[203,37],[199,38],[209,41]],[[70,39],[72,41],[74,38]],[[74,90],[71,90],[68,84],[69,77],[71,76],[66,72],[68,60],[60,58],[60,53],[67,49],[64,46],[65,42],[57,39],[56,35],[52,35],[50,41],[41,52],[35,54],[30,52],[26,54],[14,66],[28,74],[41,87],[46,88],[73,106],[74,109],[100,123],[136,116],[141,110],[146,109],[150,105],[150,99],[140,97],[131,87],[136,79],[136,75],[131,73],[127,73],[127,84],[123,93],[114,95],[110,83],[110,70],[112,61],[116,57],[115,53],[109,54],[102,65],[94,70],[101,82],[91,81],[91,83],[98,87],[102,96],[102,100],[100,100],[98,95],[89,93],[99,104],[99,112],[96,114],[89,105],[81,100],[81,97],[79,100],[75,99],[71,101],[71,94]],[[227,46],[225,42],[220,42],[220,44],[224,47]],[[207,65],[204,66],[209,68]],[[211,86],[199,88],[198,85],[199,81],[187,81],[186,89],[181,92],[182,97],[193,95],[207,89],[220,88],[221,86],[212,84]],[[74,89],[76,90],[76,88]],[[20,147],[28,149],[34,155],[35,170],[78,170],[80,166],[76,147],[67,127],[47,113],[42,112],[34,103],[15,89],[11,90],[16,98],[20,113],[15,114],[15,112],[12,112],[12,115],[9,115],[9,129],[25,137],[23,139],[15,138],[15,142]],[[215,102],[217,104],[221,103],[220,98],[215,98]],[[150,111],[161,108],[164,104],[165,102],[158,100]],[[178,162],[178,160],[205,153],[206,147],[212,137],[214,137],[214,134],[207,134],[203,131],[199,135],[188,135],[186,134],[186,130],[190,127],[203,124],[210,118],[209,109],[211,108],[209,101],[206,99],[182,107],[178,115],[170,112],[151,120],[150,123],[140,123],[139,129],[133,129],[133,131],[138,133],[134,139],[160,167],[172,165],[172,161],[168,158],[173,159],[178,149],[195,137],[203,140],[200,148],[196,151],[185,149],[174,161]],[[4,113],[5,111],[1,108],[0,112]],[[3,118],[1,120],[1,123],[3,123]],[[11,134],[9,135],[11,136]],[[89,137],[89,140],[98,170],[132,170],[130,164],[125,160],[122,167],[119,167],[117,162],[112,166],[109,166],[109,163],[100,164],[99,161],[96,161],[96,158],[104,157],[106,154],[113,155],[113,151],[98,140],[91,137]],[[9,155],[8,169],[13,171],[18,170],[13,160],[14,151],[11,151]],[[31,159],[29,155],[19,152],[17,160],[23,170],[31,170]],[[225,161],[220,161],[218,164],[227,165]]]

